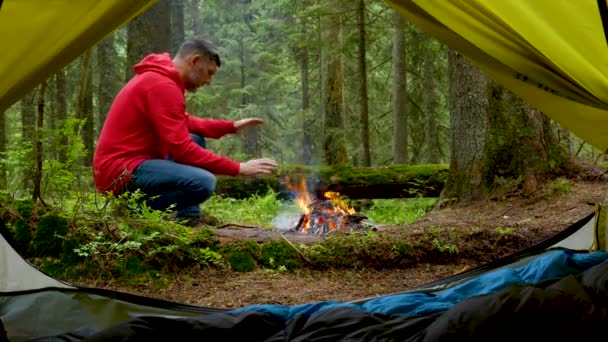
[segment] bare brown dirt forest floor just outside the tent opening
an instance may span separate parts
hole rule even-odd
[[[557,184],[557,185],[556,185]],[[180,273],[162,285],[156,283],[127,286],[113,280],[85,281],[79,285],[97,286],[180,303],[205,307],[235,308],[250,304],[295,305],[317,301],[351,301],[404,291],[440,278],[463,272],[484,262],[531,246],[594,211],[608,193],[605,181],[567,181],[539,189],[533,197],[494,196],[474,205],[435,209],[408,225],[378,227],[380,232],[408,233],[408,239],[430,234],[429,229],[457,229],[481,232],[508,231],[511,239],[495,240],[484,255],[469,257],[467,246],[488,244],[485,234],[469,234],[459,252],[443,260],[419,260],[407,268],[307,270],[294,273],[259,269],[238,273],[202,267]]]

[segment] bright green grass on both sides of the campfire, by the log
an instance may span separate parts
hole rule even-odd
[[[373,205],[360,214],[376,224],[411,223],[424,215],[437,202],[436,198],[376,199]],[[272,220],[285,203],[275,199],[270,192],[265,196],[248,199],[222,198],[212,196],[202,206],[202,210],[223,222],[251,224],[272,227]]]

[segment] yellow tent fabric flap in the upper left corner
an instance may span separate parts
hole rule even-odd
[[[4,0],[0,112],[156,0]]]

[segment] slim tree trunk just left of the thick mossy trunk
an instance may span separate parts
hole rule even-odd
[[[437,97],[433,64],[435,56],[432,50],[432,40],[428,34],[423,34],[423,80],[422,96],[424,100],[424,146],[426,147],[425,162],[438,164],[441,162],[441,145],[439,142],[439,127],[437,126]]]

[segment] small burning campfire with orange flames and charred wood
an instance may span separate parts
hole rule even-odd
[[[289,177],[286,177],[285,184],[295,194],[294,203],[303,212],[292,231],[327,234],[366,229],[362,221],[367,217],[357,214],[354,208],[340,198],[339,193],[326,191],[314,195],[307,189],[304,178],[299,183],[292,184]]]

